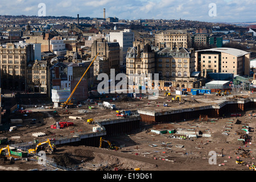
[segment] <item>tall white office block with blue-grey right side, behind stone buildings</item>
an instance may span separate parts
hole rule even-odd
[[[133,47],[134,32],[125,29],[121,32],[110,32],[108,42],[118,42],[120,46],[120,68],[126,68],[126,53],[129,47]]]

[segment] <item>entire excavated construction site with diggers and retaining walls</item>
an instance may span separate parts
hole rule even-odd
[[[147,96],[105,94],[54,108],[6,93],[19,107],[0,133],[0,170],[255,170],[255,94]]]

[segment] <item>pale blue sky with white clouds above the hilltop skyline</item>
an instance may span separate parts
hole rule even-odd
[[[38,6],[44,3],[43,6]],[[255,0],[1,0],[0,15],[256,22]],[[43,10],[43,11],[42,11]],[[45,11],[44,11],[45,10]],[[40,13],[39,13],[40,11]],[[43,14],[44,15],[44,14]]]

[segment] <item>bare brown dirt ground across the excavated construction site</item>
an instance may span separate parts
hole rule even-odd
[[[170,107],[191,107],[192,105],[203,105],[210,103],[217,103],[226,98],[214,96],[199,96],[183,97],[191,101],[190,105],[179,105],[171,103]],[[163,110],[170,109],[170,107],[163,107],[163,102],[169,102],[167,97],[160,97],[159,100],[134,100],[134,101],[113,101],[119,109],[151,109]],[[186,102],[185,100],[183,100]],[[149,103],[150,102],[150,103]],[[115,111],[105,110],[102,107],[95,106],[95,109],[89,110],[88,106],[82,106],[76,109],[32,109],[27,116],[24,114],[13,114],[11,118],[22,118],[23,123],[16,125],[18,129],[12,132],[2,132],[0,137],[9,138],[10,143],[17,142],[31,142],[38,139],[32,136],[32,133],[44,132],[45,137],[40,138],[57,138],[65,135],[71,135],[71,131],[91,132],[93,125],[88,125],[86,119],[96,118],[98,121],[108,118],[117,118]],[[138,108],[139,107],[139,108]],[[80,113],[79,110],[86,110],[85,113]],[[57,112],[55,112],[57,111]],[[88,147],[88,146],[63,146],[57,147],[57,151],[48,155],[48,157],[55,159],[57,164],[61,166],[77,166],[89,171],[113,171],[118,169],[133,170],[134,168],[141,168],[143,171],[246,171],[249,170],[247,165],[255,162],[255,121],[254,117],[249,117],[249,113],[253,109],[242,113],[241,117],[226,118],[208,118],[207,121],[199,121],[193,119],[183,122],[162,123],[159,125],[143,125],[141,130],[134,131],[134,133],[123,134],[118,137],[108,137],[110,142],[121,147],[118,151],[109,150],[108,148]],[[69,115],[82,117],[82,119],[69,119]],[[31,119],[36,118],[35,123],[31,123]],[[241,121],[236,124],[237,119]],[[58,121],[71,121],[75,125],[61,130],[51,129]],[[241,134],[245,134],[242,130],[243,126],[250,126],[250,140],[251,143],[244,144],[238,141]],[[228,128],[228,129],[227,129]],[[157,130],[192,130],[201,131],[203,134],[209,134],[210,137],[199,138],[173,138],[173,134],[156,134],[151,132],[151,129]],[[225,131],[225,132],[224,132]],[[227,133],[225,135],[223,133]],[[18,137],[13,138],[13,137]],[[1,145],[4,147],[5,145]],[[180,148],[180,146],[183,146]],[[236,150],[240,148],[247,152],[246,155],[235,154]],[[214,151],[217,156],[216,164],[209,164],[209,152]],[[222,152],[222,153],[221,153]],[[245,161],[245,164],[236,164],[236,158]],[[14,164],[9,161],[2,162],[0,170],[6,171],[24,171],[29,169],[38,170],[52,170],[47,166],[39,165],[36,159],[28,158],[28,160],[16,160]]]

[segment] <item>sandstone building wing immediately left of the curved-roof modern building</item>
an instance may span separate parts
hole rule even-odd
[[[163,86],[195,88],[195,71],[193,49],[164,48],[156,54],[156,73],[159,73],[159,80],[162,80]]]

